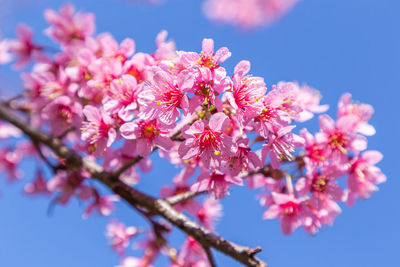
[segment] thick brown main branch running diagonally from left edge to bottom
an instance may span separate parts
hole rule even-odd
[[[0,118],[18,127],[32,141],[42,143],[51,148],[55,154],[64,159],[68,169],[86,169],[94,179],[107,185],[113,192],[121,196],[121,198],[131,206],[144,208],[155,215],[163,217],[186,234],[192,236],[202,246],[215,248],[246,266],[268,266],[265,262],[254,256],[252,249],[230,242],[201,227],[185,215],[177,212],[167,201],[156,199],[136,190],[135,188],[131,188],[118,179],[115,179],[114,173],[106,172],[103,167],[98,165],[96,162],[90,161],[87,158],[82,158],[75,151],[62,144],[59,139],[32,127],[2,103],[0,103]]]

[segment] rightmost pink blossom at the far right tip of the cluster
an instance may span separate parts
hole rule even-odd
[[[356,198],[368,198],[378,190],[377,184],[386,181],[386,176],[374,166],[383,155],[375,150],[365,151],[351,162],[350,175],[347,179],[349,189],[347,204],[352,206]]]

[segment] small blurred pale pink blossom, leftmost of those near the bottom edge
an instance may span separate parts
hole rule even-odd
[[[129,241],[138,234],[134,226],[125,227],[125,225],[116,220],[112,220],[107,225],[106,236],[110,240],[112,248],[122,256],[125,249],[129,246]]]

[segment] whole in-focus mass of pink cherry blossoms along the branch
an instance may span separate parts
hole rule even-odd
[[[300,226],[314,234],[333,223],[341,212],[338,203],[351,206],[368,198],[386,179],[375,166],[382,155],[366,151],[365,136],[375,133],[368,123],[373,108],[353,102],[350,94],[340,99],[336,121],[321,115],[317,133],[296,134],[294,123],[327,111],[319,92],[295,82],[267,90],[262,77],[250,74],[249,61],[240,61],[228,75],[223,63],[231,52],[215,49],[212,39],[203,40],[201,52],[179,51],[162,31],[156,50],[142,53],[130,38],[118,43],[109,33],[95,34],[94,15],[71,5],[46,10],[45,19],[45,33],[59,51],[36,44],[25,25],[17,27],[17,39],[0,41],[0,63],[15,58],[16,69],[33,64],[22,74],[23,92],[9,105],[80,155],[120,172],[119,179],[130,186],[139,182],[138,170],[151,170],[149,155],[157,151],[179,168],[160,196],[207,193],[174,207],[210,230],[222,215],[218,199],[244,181],[261,190],[264,218],[279,218],[284,234]],[[86,203],[84,218],[112,213],[119,196],[103,195],[88,182],[89,172],[66,169],[50,150],[20,136],[1,122],[0,138],[18,140],[1,148],[0,170],[7,171],[8,180],[22,178],[24,158],[38,159],[54,175],[47,179],[38,169],[25,186],[27,194],[54,196],[61,205],[78,198]],[[160,252],[171,266],[208,266],[205,251],[191,237],[178,252],[168,247],[167,228],[153,221],[152,230],[142,230],[114,220],[106,232],[124,258],[121,266],[150,266]],[[125,257],[138,235],[146,236],[135,243],[144,256]]]

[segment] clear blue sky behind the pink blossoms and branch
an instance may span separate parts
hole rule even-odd
[[[216,47],[227,46],[232,52],[225,65],[230,73],[237,62],[247,59],[252,73],[264,77],[269,86],[281,80],[306,82],[321,91],[323,103],[331,105],[331,115],[347,91],[372,104],[376,113],[371,123],[377,134],[369,138],[369,148],[384,154],[379,167],[388,181],[371,199],[358,201],[351,209],[343,206],[334,226],[316,236],[298,230],[286,237],[278,221],[261,219],[263,209],[254,200],[254,192],[233,188],[223,200],[225,216],[217,231],[237,243],[261,246],[259,256],[275,267],[398,266],[399,1],[303,0],[277,24],[250,32],[209,22],[200,13],[198,0],[168,0],[155,7],[122,0],[70,2],[96,14],[97,32],[109,31],[118,40],[131,37],[138,51],[152,51],[162,29],[169,31],[180,50],[199,51],[203,38],[214,38]],[[61,4],[60,0],[0,1],[0,34],[11,37],[14,26],[25,22],[38,33],[37,40],[47,42],[40,36],[46,28],[43,10],[58,9]],[[4,66],[0,80],[4,94],[20,87],[18,75]],[[157,194],[176,170],[156,158],[154,166],[139,188]],[[24,172],[30,179],[32,166],[25,165]],[[118,263],[104,238],[109,218],[83,221],[83,207],[76,201],[68,207],[57,206],[48,215],[49,200],[22,196],[21,184],[0,182],[0,191],[1,267],[110,267]],[[143,223],[123,203],[116,217],[129,225]],[[176,243],[182,235],[172,240]],[[214,254],[218,266],[239,266]]]

